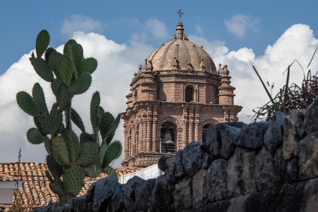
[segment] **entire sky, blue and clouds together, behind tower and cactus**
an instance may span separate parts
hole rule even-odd
[[[89,129],[91,94],[100,90],[102,104],[114,115],[126,108],[125,95],[138,65],[162,43],[171,40],[179,17],[184,33],[212,56],[217,65],[228,64],[234,103],[243,106],[239,119],[248,123],[252,109],[268,101],[252,70],[256,66],[264,81],[274,83],[273,94],[285,82],[283,71],[294,59],[304,70],[318,46],[318,19],[314,0],[299,1],[1,1],[0,2],[0,162],[16,161],[22,148],[23,161],[44,162],[43,146],[30,145],[26,132],[33,120],[16,104],[20,90],[30,92],[35,82],[50,87],[30,66],[28,58],[42,29],[51,36],[50,46],[74,38],[84,56],[98,60],[98,70],[87,94],[74,104]],[[318,56],[318,55],[317,55]],[[318,70],[318,58],[309,67]],[[291,81],[302,80],[301,68],[292,67]],[[120,126],[116,139],[123,141]],[[122,160],[122,159],[121,159]],[[120,160],[114,166],[120,166]]]

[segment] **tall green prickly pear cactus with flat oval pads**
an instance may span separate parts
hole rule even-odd
[[[117,176],[109,164],[121,154],[120,142],[113,141],[120,115],[115,118],[105,112],[96,92],[90,104],[93,133],[85,131],[80,115],[72,107],[72,98],[90,87],[97,60],[84,58],[83,48],[75,40],[65,44],[63,53],[48,48],[49,41],[48,32],[41,31],[36,41],[37,56],[32,53],[30,62],[38,75],[51,83],[56,102],[48,110],[39,83],[34,85],[31,95],[19,92],[16,99],[20,108],[34,117],[36,127],[27,131],[28,141],[45,144],[52,191],[58,194],[60,202],[71,203],[81,191],[85,176],[97,177],[102,172]],[[72,129],[74,125],[81,130],[79,137]]]

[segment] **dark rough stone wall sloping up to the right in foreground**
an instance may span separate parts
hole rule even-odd
[[[156,179],[103,178],[71,205],[35,210],[316,211],[318,98],[271,122],[212,125],[204,144],[189,143],[158,166],[165,175]]]

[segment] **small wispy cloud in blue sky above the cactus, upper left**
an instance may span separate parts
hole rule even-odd
[[[72,15],[63,21],[61,33],[71,37],[76,31],[84,33],[102,32],[103,27],[100,21],[94,21],[83,15]]]

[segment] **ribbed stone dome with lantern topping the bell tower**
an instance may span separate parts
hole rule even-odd
[[[147,58],[152,63],[154,71],[187,70],[206,71],[216,74],[216,68],[211,56],[203,49],[188,41],[187,35],[183,34],[183,24],[178,22],[177,36],[162,44]]]

